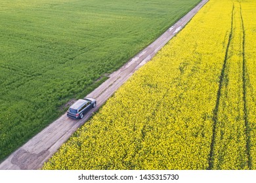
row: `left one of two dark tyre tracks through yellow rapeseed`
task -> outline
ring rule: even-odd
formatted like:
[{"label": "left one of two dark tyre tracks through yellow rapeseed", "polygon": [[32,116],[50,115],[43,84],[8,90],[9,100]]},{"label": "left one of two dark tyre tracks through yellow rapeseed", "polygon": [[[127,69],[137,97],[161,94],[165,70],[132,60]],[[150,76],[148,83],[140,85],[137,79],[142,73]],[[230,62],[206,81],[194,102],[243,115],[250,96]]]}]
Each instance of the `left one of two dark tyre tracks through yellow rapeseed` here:
[{"label": "left one of two dark tyre tracks through yellow rapeseed", "polygon": [[214,144],[215,144],[215,135],[216,135],[216,125],[218,122],[218,112],[219,112],[219,102],[221,99],[221,89],[223,88],[223,78],[224,78],[224,72],[226,70],[226,60],[228,59],[228,50],[230,47],[230,42],[232,40],[232,35],[233,35],[233,18],[234,18],[234,3],[232,7],[232,16],[231,16],[231,29],[230,29],[230,34],[228,37],[228,44],[226,46],[226,53],[224,56],[224,61],[223,61],[223,68],[221,69],[221,75],[219,76],[219,89],[217,92],[217,99],[216,99],[216,105],[213,110],[213,136],[211,137],[211,150],[209,153],[209,160],[208,160],[208,168],[209,170],[213,169],[213,156],[214,156]]}]

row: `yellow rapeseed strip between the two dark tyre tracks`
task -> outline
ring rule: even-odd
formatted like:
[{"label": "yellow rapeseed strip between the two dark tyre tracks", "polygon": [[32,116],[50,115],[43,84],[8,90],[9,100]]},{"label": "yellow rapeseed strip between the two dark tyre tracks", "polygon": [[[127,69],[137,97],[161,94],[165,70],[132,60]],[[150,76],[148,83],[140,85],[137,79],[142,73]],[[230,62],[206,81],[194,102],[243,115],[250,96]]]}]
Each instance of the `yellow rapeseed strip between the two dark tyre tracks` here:
[{"label": "yellow rapeseed strip between the two dark tyre tracks", "polygon": [[214,169],[248,169],[244,120],[243,26],[240,4],[234,1],[232,32],[223,67],[216,138]]}]

